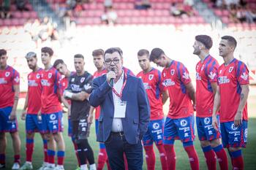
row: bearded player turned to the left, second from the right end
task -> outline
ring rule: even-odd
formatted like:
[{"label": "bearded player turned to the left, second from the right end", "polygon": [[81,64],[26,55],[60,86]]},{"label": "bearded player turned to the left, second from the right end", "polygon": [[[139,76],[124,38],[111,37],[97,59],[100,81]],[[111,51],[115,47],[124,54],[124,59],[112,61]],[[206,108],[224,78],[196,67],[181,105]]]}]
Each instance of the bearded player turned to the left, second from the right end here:
[{"label": "bearded player turned to the left, second from the right end", "polygon": [[[217,155],[220,169],[228,169],[227,154],[222,146],[221,135],[211,125],[214,95],[217,90],[217,69],[219,63],[209,54],[212,40],[207,35],[195,36],[194,54],[200,61],[196,65],[196,112],[197,134],[208,169],[216,170]],[[217,115],[219,124],[219,115]],[[214,153],[215,152],[215,153]]]}]

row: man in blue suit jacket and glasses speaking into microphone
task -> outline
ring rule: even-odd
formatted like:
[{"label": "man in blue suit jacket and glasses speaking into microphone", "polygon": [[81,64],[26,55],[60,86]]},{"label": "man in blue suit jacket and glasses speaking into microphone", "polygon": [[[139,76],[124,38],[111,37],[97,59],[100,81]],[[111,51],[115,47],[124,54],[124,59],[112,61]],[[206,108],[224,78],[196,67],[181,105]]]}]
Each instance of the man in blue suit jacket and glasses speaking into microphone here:
[{"label": "man in blue suit jacket and glasses speaking into microphone", "polygon": [[111,169],[124,170],[125,153],[129,170],[140,170],[150,107],[142,80],[124,72],[121,55],[119,48],[105,51],[108,73],[94,79],[89,103],[101,107],[97,141],[105,142]]}]

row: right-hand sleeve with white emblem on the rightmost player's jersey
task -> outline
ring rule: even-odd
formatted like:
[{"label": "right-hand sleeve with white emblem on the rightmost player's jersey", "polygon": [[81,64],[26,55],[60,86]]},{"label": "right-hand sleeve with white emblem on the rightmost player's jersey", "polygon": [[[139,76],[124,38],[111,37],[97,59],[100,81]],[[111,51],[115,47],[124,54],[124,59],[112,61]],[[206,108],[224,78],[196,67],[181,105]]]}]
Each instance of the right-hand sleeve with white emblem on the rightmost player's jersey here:
[{"label": "right-hand sleeve with white emblem on the rightmost player's jersey", "polygon": [[247,66],[241,61],[238,62],[236,77],[240,85],[249,84],[249,70],[247,69]]}]

